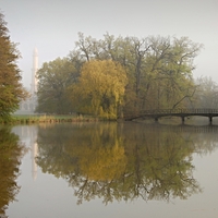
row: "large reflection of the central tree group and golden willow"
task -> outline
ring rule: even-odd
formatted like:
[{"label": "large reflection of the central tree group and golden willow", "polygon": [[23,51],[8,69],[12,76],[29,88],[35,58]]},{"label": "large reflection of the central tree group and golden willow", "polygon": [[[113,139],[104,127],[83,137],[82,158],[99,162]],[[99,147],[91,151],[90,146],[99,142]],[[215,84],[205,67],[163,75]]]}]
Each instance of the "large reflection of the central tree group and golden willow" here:
[{"label": "large reflection of the central tree group and golden willow", "polygon": [[105,204],[186,199],[201,192],[192,155],[207,150],[193,143],[196,134],[135,123],[49,125],[38,131],[37,164],[64,178],[78,204],[95,197]]}]

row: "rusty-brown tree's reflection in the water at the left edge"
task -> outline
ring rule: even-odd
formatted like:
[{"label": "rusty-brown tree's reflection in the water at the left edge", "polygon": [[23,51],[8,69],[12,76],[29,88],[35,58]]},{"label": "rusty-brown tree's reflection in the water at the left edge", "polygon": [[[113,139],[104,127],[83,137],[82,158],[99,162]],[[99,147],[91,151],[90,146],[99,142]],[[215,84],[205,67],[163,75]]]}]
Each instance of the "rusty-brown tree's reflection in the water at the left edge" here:
[{"label": "rusty-brown tree's reflection in the water at the left edge", "polygon": [[21,157],[24,147],[19,144],[19,136],[9,128],[0,128],[0,217],[7,217],[5,209],[15,201],[20,186],[16,178],[20,173]]}]

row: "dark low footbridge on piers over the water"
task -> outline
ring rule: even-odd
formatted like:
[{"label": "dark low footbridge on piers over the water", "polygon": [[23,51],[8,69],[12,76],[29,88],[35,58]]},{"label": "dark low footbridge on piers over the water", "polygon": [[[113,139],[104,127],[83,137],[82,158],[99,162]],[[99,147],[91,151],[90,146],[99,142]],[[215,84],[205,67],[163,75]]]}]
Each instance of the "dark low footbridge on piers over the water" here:
[{"label": "dark low footbridge on piers over the water", "polygon": [[192,116],[207,117],[209,123],[213,123],[213,118],[218,117],[217,108],[190,108],[190,109],[154,109],[154,110],[142,110],[134,113],[126,113],[125,120],[145,119],[153,118],[158,121],[162,117],[180,117],[184,123],[184,119]]}]

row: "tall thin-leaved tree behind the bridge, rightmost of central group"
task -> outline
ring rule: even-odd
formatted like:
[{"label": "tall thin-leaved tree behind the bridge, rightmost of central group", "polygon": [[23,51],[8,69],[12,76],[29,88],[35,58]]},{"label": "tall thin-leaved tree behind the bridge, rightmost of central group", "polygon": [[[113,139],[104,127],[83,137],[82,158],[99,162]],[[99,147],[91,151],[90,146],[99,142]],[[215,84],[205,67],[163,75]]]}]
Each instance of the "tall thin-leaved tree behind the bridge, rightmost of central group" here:
[{"label": "tall thin-leaved tree behind the bridge, rightmost of central group", "polygon": [[196,89],[193,61],[202,45],[187,37],[150,37],[149,45],[141,93],[143,108],[186,107]]}]

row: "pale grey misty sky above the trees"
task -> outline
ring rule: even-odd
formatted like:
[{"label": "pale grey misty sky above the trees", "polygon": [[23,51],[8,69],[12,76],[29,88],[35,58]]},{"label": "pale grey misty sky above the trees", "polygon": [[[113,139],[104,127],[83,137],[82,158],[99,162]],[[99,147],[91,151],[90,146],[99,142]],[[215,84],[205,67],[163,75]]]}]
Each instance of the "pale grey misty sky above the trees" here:
[{"label": "pale grey misty sky above the trees", "polygon": [[31,85],[33,51],[44,62],[66,57],[77,33],[114,36],[187,36],[204,45],[194,77],[218,83],[218,0],[0,0],[12,41],[19,43],[23,82]]}]

